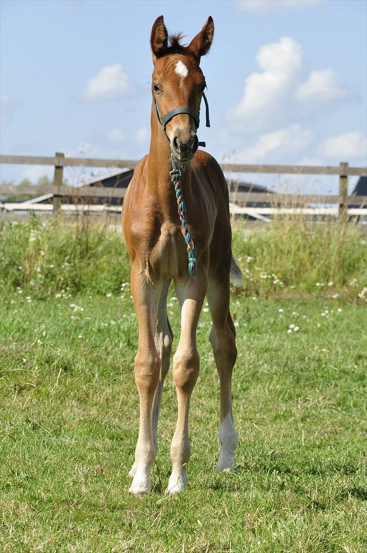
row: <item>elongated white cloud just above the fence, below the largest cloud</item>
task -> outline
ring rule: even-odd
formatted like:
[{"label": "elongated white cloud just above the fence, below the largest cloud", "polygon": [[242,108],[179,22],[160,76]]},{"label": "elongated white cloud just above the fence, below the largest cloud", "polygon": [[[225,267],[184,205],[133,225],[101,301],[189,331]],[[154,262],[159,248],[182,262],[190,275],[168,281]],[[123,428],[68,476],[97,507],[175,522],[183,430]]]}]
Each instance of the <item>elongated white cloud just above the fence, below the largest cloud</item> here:
[{"label": "elongated white cloud just above the fence, below the largest cloud", "polygon": [[313,133],[308,129],[303,129],[300,125],[291,125],[285,129],[261,134],[256,143],[250,148],[240,152],[242,160],[248,160],[249,163],[256,161],[269,163],[269,161],[289,159],[292,155],[304,152],[310,146],[313,140]]}]

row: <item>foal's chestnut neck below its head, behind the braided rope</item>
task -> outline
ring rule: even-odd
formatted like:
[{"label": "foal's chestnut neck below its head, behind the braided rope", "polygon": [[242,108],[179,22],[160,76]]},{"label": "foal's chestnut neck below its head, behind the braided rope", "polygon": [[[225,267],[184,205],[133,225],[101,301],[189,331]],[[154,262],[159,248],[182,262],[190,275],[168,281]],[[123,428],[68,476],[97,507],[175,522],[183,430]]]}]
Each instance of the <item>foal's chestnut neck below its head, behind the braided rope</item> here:
[{"label": "foal's chestnut neck below its head, behind the braided rope", "polygon": [[[171,148],[156,117],[155,108],[154,111],[152,109],[150,127],[151,137],[146,182],[150,191],[156,196],[161,209],[167,212],[167,215],[172,213],[177,218],[175,187],[170,178],[170,171],[172,170]],[[181,169],[181,173],[180,186],[186,199],[191,195],[191,166],[189,165],[185,170]]]}]

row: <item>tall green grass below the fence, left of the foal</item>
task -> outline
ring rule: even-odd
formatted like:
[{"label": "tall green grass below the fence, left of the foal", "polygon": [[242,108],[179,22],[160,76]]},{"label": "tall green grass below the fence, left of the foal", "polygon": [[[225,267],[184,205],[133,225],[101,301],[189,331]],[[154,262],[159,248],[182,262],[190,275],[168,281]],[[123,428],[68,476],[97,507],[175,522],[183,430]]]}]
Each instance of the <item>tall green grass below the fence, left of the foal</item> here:
[{"label": "tall green grass below the fence, left of the foal", "polygon": [[90,290],[114,293],[129,280],[122,235],[82,217],[6,222],[1,227],[1,289],[32,289],[35,296]]}]

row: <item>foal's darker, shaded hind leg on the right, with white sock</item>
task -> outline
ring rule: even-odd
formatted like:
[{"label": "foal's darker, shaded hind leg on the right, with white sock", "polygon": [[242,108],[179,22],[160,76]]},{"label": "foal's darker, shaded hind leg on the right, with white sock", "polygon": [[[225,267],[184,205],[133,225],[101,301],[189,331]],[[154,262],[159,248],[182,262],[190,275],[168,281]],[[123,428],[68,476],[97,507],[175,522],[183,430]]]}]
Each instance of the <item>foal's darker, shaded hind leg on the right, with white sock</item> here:
[{"label": "foal's darker, shaded hind leg on the right, with white sock", "polygon": [[221,388],[221,421],[219,424],[219,460],[217,471],[234,469],[234,451],[238,444],[232,415],[232,370],[237,357],[235,328],[229,312],[229,275],[209,278],[207,300],[212,316],[209,335]]}]

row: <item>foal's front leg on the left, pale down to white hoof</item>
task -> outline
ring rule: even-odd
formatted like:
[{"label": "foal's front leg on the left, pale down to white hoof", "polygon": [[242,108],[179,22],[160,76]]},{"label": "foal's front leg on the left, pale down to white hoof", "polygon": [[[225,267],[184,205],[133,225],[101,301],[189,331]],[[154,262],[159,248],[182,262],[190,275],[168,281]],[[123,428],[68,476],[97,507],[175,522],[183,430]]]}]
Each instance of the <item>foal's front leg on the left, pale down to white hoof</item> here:
[{"label": "foal's front leg on the left, pale down to white hoof", "polygon": [[135,449],[134,478],[129,491],[134,494],[149,493],[150,467],[155,460],[153,441],[152,406],[159,380],[160,358],[155,346],[154,334],[162,283],[147,281],[140,265],[133,265],[131,290],[138,316],[139,345],[135,357],[135,382],[140,399],[139,437]]}]

